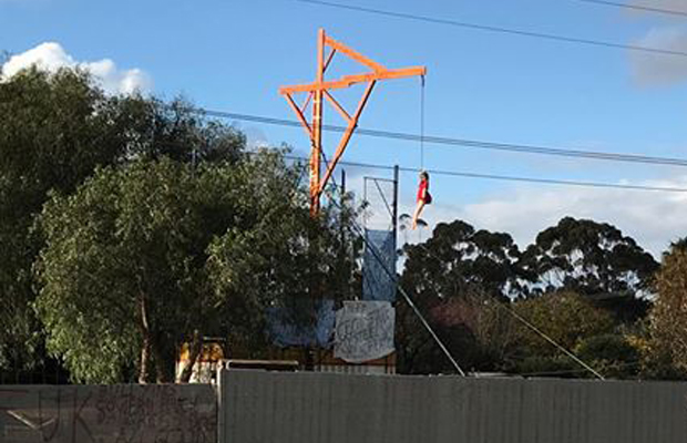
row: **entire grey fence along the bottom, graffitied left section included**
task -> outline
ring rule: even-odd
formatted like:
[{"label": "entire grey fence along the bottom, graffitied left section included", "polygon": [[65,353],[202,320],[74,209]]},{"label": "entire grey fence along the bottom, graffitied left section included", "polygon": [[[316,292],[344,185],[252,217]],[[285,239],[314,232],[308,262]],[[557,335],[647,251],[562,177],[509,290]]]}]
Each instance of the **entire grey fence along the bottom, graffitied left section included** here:
[{"label": "entire grey fence along the bottom, graffitied left section included", "polygon": [[240,370],[219,380],[217,391],[0,385],[0,442],[687,442],[687,383]]}]

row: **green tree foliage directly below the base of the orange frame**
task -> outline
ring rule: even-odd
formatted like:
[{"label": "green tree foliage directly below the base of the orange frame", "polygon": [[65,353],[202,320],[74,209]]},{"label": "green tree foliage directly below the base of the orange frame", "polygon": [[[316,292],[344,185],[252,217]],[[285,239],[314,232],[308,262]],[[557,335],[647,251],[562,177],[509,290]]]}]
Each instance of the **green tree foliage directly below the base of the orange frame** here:
[{"label": "green tree foliage directly below the base of the orange frame", "polygon": [[[278,171],[288,169],[275,165]],[[348,198],[339,207],[322,208],[314,219],[307,194],[284,186],[294,178],[275,182],[278,186],[265,192],[255,224],[227,230],[209,248],[208,271],[224,310],[223,330],[235,348],[253,357],[260,356],[267,339],[267,307],[285,308],[286,321],[307,329],[322,298],[350,298],[360,281],[356,259],[361,243],[347,229],[357,215]]]}]

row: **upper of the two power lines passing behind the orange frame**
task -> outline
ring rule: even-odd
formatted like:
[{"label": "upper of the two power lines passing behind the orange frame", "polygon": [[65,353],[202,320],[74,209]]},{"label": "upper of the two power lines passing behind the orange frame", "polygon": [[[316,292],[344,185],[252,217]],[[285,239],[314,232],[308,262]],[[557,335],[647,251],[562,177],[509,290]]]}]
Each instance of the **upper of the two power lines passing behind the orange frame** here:
[{"label": "upper of the two power lines passing behind the orange frame", "polygon": [[[245,121],[245,122],[280,125],[280,126],[288,126],[288,127],[301,127],[300,122],[297,122],[295,120],[275,119],[275,117],[267,117],[267,116],[260,116],[260,115],[239,114],[239,113],[233,113],[233,112],[213,111],[213,110],[205,110],[205,109],[196,109],[195,111],[198,113],[205,114],[205,115],[221,117],[221,119],[238,120],[238,121]],[[342,133],[347,128],[344,126],[338,126],[338,125],[322,125],[322,130],[329,131],[329,132]],[[572,157],[572,158],[586,158],[586,159],[596,159],[596,161],[640,163],[640,164],[649,164],[649,165],[687,167],[686,158],[658,157],[658,156],[649,156],[649,155],[621,154],[621,153],[609,153],[609,152],[594,152],[594,151],[585,151],[585,150],[551,147],[551,146],[536,146],[536,145],[525,145],[525,144],[514,144],[514,143],[488,142],[488,141],[479,141],[479,140],[470,140],[470,138],[440,137],[440,136],[433,136],[433,135],[421,136],[421,135],[410,134],[410,133],[369,130],[369,128],[362,128],[362,127],[358,127],[356,132],[360,135],[370,136],[370,137],[400,140],[400,141],[406,141],[406,142],[424,141],[425,143],[431,143],[435,145],[459,146],[459,147],[468,147],[468,148],[475,148],[475,150],[503,151],[503,152],[550,155],[550,156],[561,156],[561,157]]]}]

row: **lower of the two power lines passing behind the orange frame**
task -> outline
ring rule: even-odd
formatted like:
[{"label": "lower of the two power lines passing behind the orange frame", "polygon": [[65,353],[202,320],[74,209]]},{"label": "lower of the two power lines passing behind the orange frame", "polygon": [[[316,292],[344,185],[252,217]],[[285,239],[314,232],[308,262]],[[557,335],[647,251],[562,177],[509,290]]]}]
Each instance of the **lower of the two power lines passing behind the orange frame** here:
[{"label": "lower of the two power lines passing behind the orange frame", "polygon": [[[289,159],[307,161],[306,157],[287,155]],[[349,162],[340,161],[339,165],[351,167],[363,167],[369,169],[383,169],[393,171],[393,166],[380,165],[373,163]],[[399,166],[399,171],[419,173],[421,169],[417,167]],[[561,186],[578,186],[578,187],[596,187],[596,188],[611,188],[611,189],[624,189],[624,190],[650,190],[650,192],[667,192],[667,193],[687,193],[687,188],[684,187],[667,187],[667,186],[644,186],[644,185],[623,185],[614,183],[601,183],[601,182],[582,182],[582,181],[562,181],[554,178],[536,178],[536,177],[521,177],[513,175],[496,175],[496,174],[480,174],[460,171],[442,171],[442,169],[429,169],[432,175],[444,175],[462,178],[483,178],[494,179],[503,182],[521,182],[521,183],[536,183],[544,185],[561,185]]]}]

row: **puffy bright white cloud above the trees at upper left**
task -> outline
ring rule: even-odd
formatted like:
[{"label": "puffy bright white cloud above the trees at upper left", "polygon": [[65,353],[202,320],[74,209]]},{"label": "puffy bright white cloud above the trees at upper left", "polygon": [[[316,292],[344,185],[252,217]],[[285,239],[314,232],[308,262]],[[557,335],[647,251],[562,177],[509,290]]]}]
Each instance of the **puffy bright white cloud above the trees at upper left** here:
[{"label": "puffy bright white cloud above the trees at upper left", "polygon": [[147,92],[153,85],[151,76],[140,69],[120,70],[110,59],[78,62],[55,42],[41,43],[21,54],[13,55],[2,66],[2,72],[7,78],[11,78],[22,69],[34,64],[50,72],[63,66],[79,66],[91,72],[105,92],[111,94]]}]

